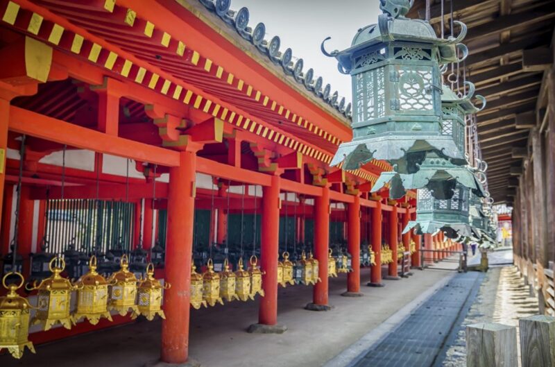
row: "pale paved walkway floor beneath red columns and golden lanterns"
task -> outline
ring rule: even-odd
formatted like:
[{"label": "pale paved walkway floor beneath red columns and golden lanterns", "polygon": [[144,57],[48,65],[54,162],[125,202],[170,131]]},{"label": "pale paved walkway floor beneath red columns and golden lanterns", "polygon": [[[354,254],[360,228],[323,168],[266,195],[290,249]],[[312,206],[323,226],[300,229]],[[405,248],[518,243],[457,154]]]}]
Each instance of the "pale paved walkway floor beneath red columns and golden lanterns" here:
[{"label": "pale paved walkway floor beneath red columns and golden lanterns", "polygon": [[[369,269],[363,269],[366,284]],[[278,321],[289,327],[282,335],[248,334],[257,322],[258,302],[232,302],[225,306],[191,311],[191,357],[206,367],[316,367],[348,349],[353,343],[379,330],[395,326],[392,316],[402,319],[444,284],[454,271],[414,271],[402,280],[385,280],[386,287],[362,287],[364,297],[345,298],[346,277],[330,279],[332,311],[306,311],[312,287],[280,289]],[[388,321],[389,322],[386,322]],[[418,332],[418,330],[415,330]],[[373,338],[379,337],[374,334]],[[370,343],[373,341],[370,339]],[[20,361],[0,355],[0,366],[33,367],[141,367],[160,352],[160,322],[139,322],[37,345],[37,354]],[[351,358],[352,359],[352,358]],[[348,359],[350,360],[350,359]],[[341,366],[341,358],[334,359]],[[344,364],[343,364],[344,365]]]}]

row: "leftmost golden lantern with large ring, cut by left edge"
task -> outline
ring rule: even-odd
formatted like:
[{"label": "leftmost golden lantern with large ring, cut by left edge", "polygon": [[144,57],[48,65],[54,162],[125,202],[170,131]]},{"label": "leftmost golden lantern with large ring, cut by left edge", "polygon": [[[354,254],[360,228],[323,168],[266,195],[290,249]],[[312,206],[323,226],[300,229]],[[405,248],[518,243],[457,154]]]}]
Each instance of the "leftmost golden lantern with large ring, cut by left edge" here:
[{"label": "leftmost golden lantern with large ring, cut by left edge", "polygon": [[[6,284],[10,275],[22,279],[19,284]],[[35,352],[29,336],[29,311],[32,308],[26,298],[20,297],[16,290],[24,283],[23,275],[9,272],[2,278],[2,285],[8,289],[6,296],[0,297],[0,350],[6,348],[14,358],[21,358],[25,347]]]}]

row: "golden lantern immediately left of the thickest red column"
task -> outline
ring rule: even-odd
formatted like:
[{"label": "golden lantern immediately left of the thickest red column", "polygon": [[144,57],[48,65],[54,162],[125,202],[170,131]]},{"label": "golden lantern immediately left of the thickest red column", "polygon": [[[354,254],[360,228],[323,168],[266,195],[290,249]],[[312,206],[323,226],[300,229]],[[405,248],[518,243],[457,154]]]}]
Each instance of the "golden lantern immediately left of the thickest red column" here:
[{"label": "golden lantern immediately left of the thickest red column", "polygon": [[[154,278],[154,264],[150,263],[146,266],[146,276],[144,280],[139,281],[137,287],[137,316],[142,315],[148,321],[153,321],[154,316],[158,315],[166,319],[164,311],[162,311],[162,289],[169,289],[171,284]],[[136,317],[136,316],[135,316]]]}]

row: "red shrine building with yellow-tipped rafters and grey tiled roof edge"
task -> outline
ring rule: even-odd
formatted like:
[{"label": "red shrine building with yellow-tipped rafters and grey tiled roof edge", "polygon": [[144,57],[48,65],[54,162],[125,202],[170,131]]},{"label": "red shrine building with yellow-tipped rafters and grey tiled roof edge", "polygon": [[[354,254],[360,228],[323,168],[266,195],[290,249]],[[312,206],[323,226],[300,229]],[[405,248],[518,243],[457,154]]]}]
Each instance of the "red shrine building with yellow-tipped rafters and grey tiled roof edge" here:
[{"label": "red shrine building with yellow-tipped rafters and grey tiled roof edge", "polygon": [[[193,264],[202,273],[229,257],[236,271],[239,257],[246,268],[254,255],[258,322],[268,327],[280,321],[286,251],[317,260],[319,280],[306,290],[316,308],[328,305],[338,253],[348,254],[350,293],[420,265],[421,237],[402,235],[415,194],[370,194],[384,162],[330,167],[352,138],[350,103],[293,62],[279,37],[266,39],[264,24],[249,24],[248,9],[210,4],[0,1],[3,272],[15,265],[40,279],[66,254],[71,278],[94,254],[109,273],[123,254],[133,268],[142,250],[169,284],[160,350],[169,363],[188,357]],[[425,236],[427,248],[460,248],[442,236]],[[36,304],[36,291],[19,291]],[[132,321],[112,319],[31,326],[29,340]]]}]

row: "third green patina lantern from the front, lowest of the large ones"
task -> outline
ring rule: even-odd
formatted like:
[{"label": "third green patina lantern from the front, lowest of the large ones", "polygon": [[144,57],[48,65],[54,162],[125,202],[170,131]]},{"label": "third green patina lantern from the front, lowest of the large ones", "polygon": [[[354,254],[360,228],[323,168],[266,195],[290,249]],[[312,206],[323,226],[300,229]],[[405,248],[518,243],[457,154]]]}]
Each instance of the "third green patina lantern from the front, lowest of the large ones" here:
[{"label": "third green patina lantern from the front, lowest of the large ones", "polygon": [[418,189],[416,203],[416,221],[409,221],[403,234],[412,228],[417,234],[432,234],[441,230],[449,238],[460,235],[472,236],[468,222],[470,190],[463,185],[457,185],[454,195],[450,199],[436,199],[429,189]]}]

